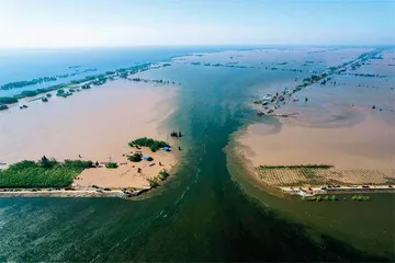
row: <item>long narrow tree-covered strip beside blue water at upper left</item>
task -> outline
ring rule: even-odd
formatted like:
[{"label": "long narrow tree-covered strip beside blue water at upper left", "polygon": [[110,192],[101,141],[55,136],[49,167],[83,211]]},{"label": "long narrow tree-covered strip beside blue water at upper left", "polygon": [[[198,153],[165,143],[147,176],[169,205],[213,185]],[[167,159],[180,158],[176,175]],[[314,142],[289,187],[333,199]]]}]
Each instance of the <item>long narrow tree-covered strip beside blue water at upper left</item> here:
[{"label": "long narrow tree-covered strip beside blue water at upper left", "polygon": [[[75,91],[79,92],[81,90],[88,90],[94,85],[102,85],[102,84],[106,83],[108,81],[113,81],[116,79],[126,79],[126,80],[135,81],[135,82],[154,82],[157,84],[177,84],[174,81],[169,81],[169,80],[148,80],[148,79],[140,79],[140,78],[128,78],[128,76],[135,75],[137,72],[143,72],[143,71],[146,71],[149,69],[168,67],[168,66],[171,66],[171,64],[143,64],[143,65],[137,65],[137,66],[132,66],[128,68],[120,68],[114,71],[106,71],[105,73],[101,73],[101,75],[87,76],[82,79],[71,80],[68,83],[56,84],[56,85],[52,85],[48,88],[42,88],[42,89],[36,89],[36,90],[22,91],[20,94],[16,94],[14,96],[0,96],[0,111],[8,110],[9,104],[18,103],[19,100],[24,99],[24,98],[33,98],[33,96],[37,96],[40,94],[52,92],[52,91],[57,91],[57,94],[56,94],[57,96],[67,98],[67,96],[72,95],[72,93]],[[2,85],[1,89],[8,90],[8,89],[14,89],[14,88],[22,88],[22,87],[30,85],[30,84],[48,82],[48,81],[50,81],[49,79],[38,78],[38,79],[33,79],[31,81],[11,82],[11,83]],[[178,83],[178,84],[180,84],[180,83]],[[64,89],[69,89],[69,90],[64,90]],[[58,91],[58,90],[60,90],[60,91]],[[43,98],[37,98],[37,100],[42,100],[42,99]],[[47,102],[47,101],[48,101],[48,96],[45,100],[45,102]]]}]

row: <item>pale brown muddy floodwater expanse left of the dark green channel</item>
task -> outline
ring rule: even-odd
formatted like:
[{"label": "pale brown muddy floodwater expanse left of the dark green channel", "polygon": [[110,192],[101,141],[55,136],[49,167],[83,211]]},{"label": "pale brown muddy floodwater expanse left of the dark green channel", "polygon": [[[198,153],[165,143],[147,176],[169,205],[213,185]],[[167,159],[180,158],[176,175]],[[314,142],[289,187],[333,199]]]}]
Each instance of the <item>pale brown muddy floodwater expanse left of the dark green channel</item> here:
[{"label": "pale brown muddy floodwater expanse left of the dark green channel", "polygon": [[[161,169],[170,171],[178,156],[143,149],[144,153],[151,155],[155,165],[149,167],[146,161],[132,163],[124,155],[135,149],[127,142],[151,137],[178,148],[179,141],[171,140],[165,124],[176,110],[178,89],[119,80],[67,99],[53,96],[47,103],[31,102],[25,110],[13,107],[0,112],[0,162],[37,160],[44,155],[58,160],[79,159],[79,156],[93,162],[112,160],[121,165],[88,169],[75,185],[146,187],[146,179],[157,175]],[[137,173],[138,167],[142,173]]]}]

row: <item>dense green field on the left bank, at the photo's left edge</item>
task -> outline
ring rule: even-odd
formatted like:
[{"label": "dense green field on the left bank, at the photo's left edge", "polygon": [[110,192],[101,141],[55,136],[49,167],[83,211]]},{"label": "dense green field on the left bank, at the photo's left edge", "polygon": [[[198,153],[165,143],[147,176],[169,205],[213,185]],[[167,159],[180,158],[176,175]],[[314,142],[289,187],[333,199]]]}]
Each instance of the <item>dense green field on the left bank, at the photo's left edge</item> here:
[{"label": "dense green field on the left bank, at the photo's left edge", "polygon": [[78,174],[90,167],[92,167],[91,161],[58,162],[45,156],[37,162],[24,160],[0,170],[0,187],[67,187]]}]

